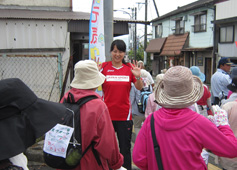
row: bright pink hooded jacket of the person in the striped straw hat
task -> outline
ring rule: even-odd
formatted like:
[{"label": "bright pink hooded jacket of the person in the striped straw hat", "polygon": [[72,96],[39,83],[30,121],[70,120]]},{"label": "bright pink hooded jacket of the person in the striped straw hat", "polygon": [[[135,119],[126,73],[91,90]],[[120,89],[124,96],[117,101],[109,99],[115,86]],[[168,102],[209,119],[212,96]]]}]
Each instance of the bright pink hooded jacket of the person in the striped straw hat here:
[{"label": "bright pink hooded jacket of the person in the striped straw hat", "polygon": [[[203,148],[225,157],[237,156],[237,139],[229,126],[218,128],[188,109],[161,108],[154,112],[155,130],[164,170],[206,170]],[[133,148],[133,162],[141,170],[157,170],[150,126],[145,120]]]}]

